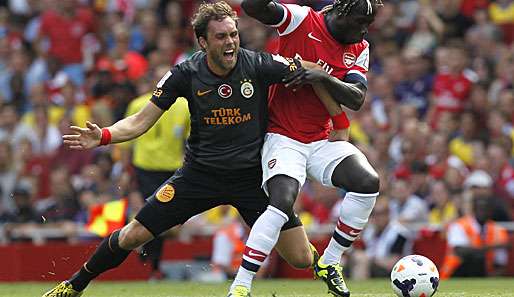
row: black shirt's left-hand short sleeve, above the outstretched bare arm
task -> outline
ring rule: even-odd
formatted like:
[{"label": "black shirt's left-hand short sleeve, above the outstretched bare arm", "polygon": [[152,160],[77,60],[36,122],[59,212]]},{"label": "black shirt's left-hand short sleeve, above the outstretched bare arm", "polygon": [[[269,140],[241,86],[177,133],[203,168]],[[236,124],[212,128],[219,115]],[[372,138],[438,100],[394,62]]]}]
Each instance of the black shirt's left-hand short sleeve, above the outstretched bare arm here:
[{"label": "black shirt's left-hand short sleeve, above the outstretched bare arm", "polygon": [[168,110],[178,97],[187,97],[187,86],[189,82],[187,75],[179,67],[173,67],[166,72],[157,83],[150,101],[159,108]]}]

